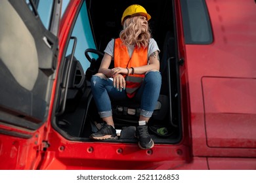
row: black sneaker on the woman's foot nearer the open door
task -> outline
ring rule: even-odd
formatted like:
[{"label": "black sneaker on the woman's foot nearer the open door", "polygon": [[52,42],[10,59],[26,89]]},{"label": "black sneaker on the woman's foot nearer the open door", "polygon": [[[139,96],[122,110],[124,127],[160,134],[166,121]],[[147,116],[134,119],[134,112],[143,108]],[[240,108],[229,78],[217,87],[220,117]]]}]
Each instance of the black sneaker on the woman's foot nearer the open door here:
[{"label": "black sneaker on the woman's foot nearer the open door", "polygon": [[104,139],[117,139],[116,129],[112,125],[104,124],[102,128],[96,133],[91,134],[90,139],[104,140]]}]

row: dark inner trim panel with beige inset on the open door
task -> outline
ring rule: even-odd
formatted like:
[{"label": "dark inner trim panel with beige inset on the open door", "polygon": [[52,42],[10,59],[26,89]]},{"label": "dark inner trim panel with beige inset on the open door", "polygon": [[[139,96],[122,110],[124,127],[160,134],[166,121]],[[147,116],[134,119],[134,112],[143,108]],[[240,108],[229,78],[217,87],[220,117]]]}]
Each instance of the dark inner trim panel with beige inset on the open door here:
[{"label": "dark inner trim panel with beige inset on the open door", "polygon": [[57,37],[37,12],[39,1],[33,2],[0,3],[0,121],[28,129],[47,119],[58,51]]}]

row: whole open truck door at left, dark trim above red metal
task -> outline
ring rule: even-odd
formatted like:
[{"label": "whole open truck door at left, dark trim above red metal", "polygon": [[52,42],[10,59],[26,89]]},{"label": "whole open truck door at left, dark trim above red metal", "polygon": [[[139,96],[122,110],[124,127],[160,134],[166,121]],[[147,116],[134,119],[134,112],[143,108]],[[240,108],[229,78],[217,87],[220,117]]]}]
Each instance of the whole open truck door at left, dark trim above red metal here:
[{"label": "whole open truck door at left, dark trim above red metal", "polygon": [[61,1],[0,3],[0,169],[36,169],[58,56]]}]

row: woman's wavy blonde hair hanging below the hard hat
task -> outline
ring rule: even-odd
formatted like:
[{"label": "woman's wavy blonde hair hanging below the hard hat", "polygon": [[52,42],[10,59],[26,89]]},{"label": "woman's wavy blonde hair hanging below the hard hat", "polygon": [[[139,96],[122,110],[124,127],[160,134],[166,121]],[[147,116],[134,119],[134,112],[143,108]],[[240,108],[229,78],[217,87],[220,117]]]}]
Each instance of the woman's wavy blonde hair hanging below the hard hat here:
[{"label": "woman's wavy blonde hair hanging below the hard hat", "polygon": [[145,32],[142,32],[140,26],[140,16],[132,16],[125,20],[123,30],[120,32],[119,37],[125,45],[137,45],[138,48],[146,48],[151,38],[150,28],[147,26]]}]

